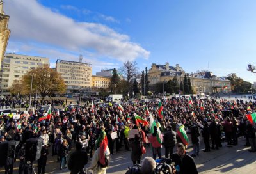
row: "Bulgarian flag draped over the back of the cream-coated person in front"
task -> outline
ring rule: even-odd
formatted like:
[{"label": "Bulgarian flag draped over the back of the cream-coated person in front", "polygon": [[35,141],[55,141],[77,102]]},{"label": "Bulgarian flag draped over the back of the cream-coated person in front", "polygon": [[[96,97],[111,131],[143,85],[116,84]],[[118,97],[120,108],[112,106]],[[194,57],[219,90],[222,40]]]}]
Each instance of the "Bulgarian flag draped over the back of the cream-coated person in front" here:
[{"label": "Bulgarian flag draped over the back of the cream-coated person in front", "polygon": [[107,138],[106,132],[104,130],[101,130],[99,138],[95,143],[94,149],[97,150],[97,148],[100,148],[99,162],[102,165],[105,164],[105,151],[107,147],[108,147],[108,138]]}]

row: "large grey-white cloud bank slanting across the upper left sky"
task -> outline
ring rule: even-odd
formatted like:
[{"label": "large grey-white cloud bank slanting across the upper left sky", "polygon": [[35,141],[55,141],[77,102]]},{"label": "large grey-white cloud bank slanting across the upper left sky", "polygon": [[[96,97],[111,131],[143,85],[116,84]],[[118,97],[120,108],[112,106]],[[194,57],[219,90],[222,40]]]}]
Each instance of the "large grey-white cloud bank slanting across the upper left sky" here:
[{"label": "large grey-white cloud bank slanting across the upper left sky", "polygon": [[[65,8],[74,10],[72,6]],[[134,61],[136,58],[148,59],[150,55],[141,45],[131,42],[127,35],[102,24],[75,22],[52,12],[36,0],[8,0],[4,3],[4,12],[10,15],[8,28],[11,29],[10,40],[13,42],[35,42],[70,52],[90,51],[97,56],[122,62]]]}]

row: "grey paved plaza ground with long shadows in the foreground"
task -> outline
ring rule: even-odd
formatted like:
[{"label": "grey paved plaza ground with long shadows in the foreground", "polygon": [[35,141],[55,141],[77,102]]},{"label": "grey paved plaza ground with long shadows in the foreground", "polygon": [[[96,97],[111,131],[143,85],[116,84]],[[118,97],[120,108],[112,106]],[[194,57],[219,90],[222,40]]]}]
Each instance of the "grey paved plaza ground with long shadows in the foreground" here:
[{"label": "grey paved plaza ground with long shadows in the foreground", "polygon": [[[239,138],[238,145],[232,146],[232,148],[226,147],[225,142],[222,144],[223,147],[219,150],[203,152],[204,144],[201,142],[200,154],[198,157],[195,157],[199,173],[255,173],[256,153],[248,152],[250,148],[244,146],[245,138]],[[192,148],[189,147],[189,154],[191,154],[191,150]],[[162,155],[164,155],[164,148],[162,148]],[[152,151],[150,148],[147,148],[147,153],[144,156],[152,157]],[[89,165],[87,164],[86,166]],[[107,173],[123,174],[127,171],[128,166],[132,166],[131,151],[127,152],[123,149],[121,152],[115,153],[111,156],[111,164],[108,167]],[[60,170],[60,164],[57,163],[56,156],[51,157],[51,155],[49,155],[47,160],[46,171],[47,173],[70,173],[68,169]],[[0,173],[4,173],[4,168],[0,168]],[[13,173],[18,173],[18,162],[15,163]]]}]

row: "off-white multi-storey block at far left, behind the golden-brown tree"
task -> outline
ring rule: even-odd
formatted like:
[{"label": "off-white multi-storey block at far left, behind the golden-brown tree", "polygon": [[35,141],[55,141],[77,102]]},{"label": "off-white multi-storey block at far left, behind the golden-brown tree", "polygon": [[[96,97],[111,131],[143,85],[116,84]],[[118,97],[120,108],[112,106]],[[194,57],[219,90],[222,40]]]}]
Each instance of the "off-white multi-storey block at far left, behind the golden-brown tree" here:
[{"label": "off-white multi-storey block at far left, behind the golden-brown tree", "polygon": [[8,88],[12,86],[14,81],[19,81],[29,70],[45,64],[49,65],[49,58],[6,54],[0,72],[1,94],[10,95]]}]

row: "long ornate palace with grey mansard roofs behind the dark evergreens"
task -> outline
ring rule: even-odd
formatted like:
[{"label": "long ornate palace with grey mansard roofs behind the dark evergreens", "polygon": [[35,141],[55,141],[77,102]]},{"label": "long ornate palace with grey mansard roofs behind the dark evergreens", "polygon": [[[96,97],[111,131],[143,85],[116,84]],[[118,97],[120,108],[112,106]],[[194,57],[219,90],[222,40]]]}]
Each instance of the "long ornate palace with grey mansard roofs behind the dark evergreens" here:
[{"label": "long ornate palace with grey mansard roofs behind the dark evergreens", "polygon": [[[152,64],[150,70],[148,70],[149,85],[153,85],[159,82],[172,80],[177,78],[179,84],[184,81],[185,75],[190,78],[191,86],[195,93],[219,93],[224,91],[228,93],[231,91],[231,83],[229,80],[221,77],[217,77],[212,72],[204,72],[203,74],[189,74],[186,73],[179,64],[176,66],[169,66],[169,63],[165,65]],[[223,86],[227,85],[227,89],[223,90]]]}]

